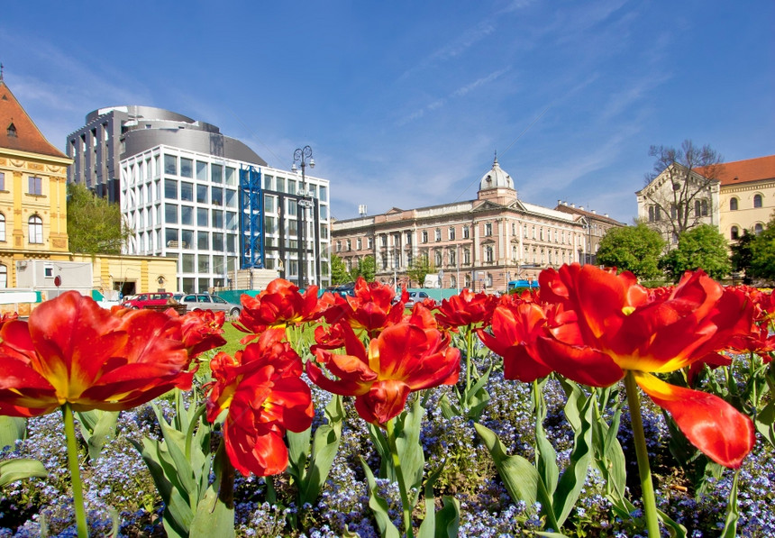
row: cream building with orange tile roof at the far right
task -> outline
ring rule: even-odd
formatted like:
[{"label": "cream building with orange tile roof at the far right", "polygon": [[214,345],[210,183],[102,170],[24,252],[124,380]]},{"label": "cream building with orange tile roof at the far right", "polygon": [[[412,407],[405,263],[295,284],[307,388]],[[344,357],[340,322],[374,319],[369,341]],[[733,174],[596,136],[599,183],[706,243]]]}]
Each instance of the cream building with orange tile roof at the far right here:
[{"label": "cream building with orange tile roof at the far right", "polygon": [[[687,182],[691,199],[670,203]],[[734,242],[745,230],[761,233],[775,211],[775,155],[712,169],[687,170],[674,164],[635,195],[638,218],[659,230],[669,244],[678,242],[670,225],[676,218],[683,218],[685,229],[700,223],[716,226],[728,242]]]}]

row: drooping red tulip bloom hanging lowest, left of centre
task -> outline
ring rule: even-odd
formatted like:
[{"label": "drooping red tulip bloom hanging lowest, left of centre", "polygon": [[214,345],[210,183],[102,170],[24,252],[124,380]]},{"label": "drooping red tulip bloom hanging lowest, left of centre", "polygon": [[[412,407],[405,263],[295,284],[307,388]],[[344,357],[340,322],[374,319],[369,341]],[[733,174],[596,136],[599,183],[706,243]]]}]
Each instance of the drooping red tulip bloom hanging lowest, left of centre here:
[{"label": "drooping red tulip bloom hanging lowest, left of centre", "polygon": [[287,468],[287,430],[304,432],[314,415],[312,395],[299,378],[301,359],[283,341],[284,329],[268,329],[234,358],[218,353],[210,363],[214,381],[207,420],[223,410],[223,441],[234,469],[248,476],[276,475]]}]

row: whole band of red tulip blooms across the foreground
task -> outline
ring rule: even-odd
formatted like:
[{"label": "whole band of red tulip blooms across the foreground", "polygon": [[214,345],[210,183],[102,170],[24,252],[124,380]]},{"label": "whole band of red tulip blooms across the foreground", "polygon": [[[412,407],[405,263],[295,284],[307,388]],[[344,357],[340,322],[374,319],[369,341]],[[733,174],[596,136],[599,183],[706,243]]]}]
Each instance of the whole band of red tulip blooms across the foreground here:
[{"label": "whole band of red tulip blooms across the foreground", "polygon": [[[522,295],[463,290],[440,305],[407,311],[406,292],[395,296],[391,287],[362,278],[353,296],[318,296],[316,287],[302,293],[277,279],[258,296],[242,296],[234,326],[246,333],[245,347],[210,361],[202,413],[208,423],[223,424],[232,470],[276,475],[289,466],[287,434],[311,428],[309,381],[354,399],[358,415],[387,435],[400,476],[396,428],[409,427],[400,421],[410,402],[418,405],[413,393],[453,386],[458,406],[446,404],[464,419],[478,420],[487,405],[483,387],[490,370],[479,378],[471,361],[478,337],[502,358],[491,368],[502,367],[506,379],[538,383],[552,375],[590,388],[624,381],[634,429],[640,388],[708,458],[741,466],[754,443],[752,420],[697,390],[696,381],[706,365],[730,364],[726,351],[751,351],[770,362],[771,293],[722,287],[701,270],[675,287],[650,290],[630,273],[579,264],[546,269],[539,282],[538,291]],[[187,390],[194,359],[225,343],[223,322],[223,313],[209,311],[107,311],[75,292],[43,303],[27,322],[4,316],[0,414],[30,417],[61,408],[67,423],[74,411],[120,411],[173,388]],[[305,347],[298,338],[307,328],[314,341]],[[467,343],[462,368],[453,345],[458,334]],[[682,386],[675,384],[676,372]],[[419,470],[422,475],[422,460]],[[408,490],[417,485],[400,478],[398,486],[405,532],[412,535],[416,498]],[[647,487],[643,483],[644,496]]]}]

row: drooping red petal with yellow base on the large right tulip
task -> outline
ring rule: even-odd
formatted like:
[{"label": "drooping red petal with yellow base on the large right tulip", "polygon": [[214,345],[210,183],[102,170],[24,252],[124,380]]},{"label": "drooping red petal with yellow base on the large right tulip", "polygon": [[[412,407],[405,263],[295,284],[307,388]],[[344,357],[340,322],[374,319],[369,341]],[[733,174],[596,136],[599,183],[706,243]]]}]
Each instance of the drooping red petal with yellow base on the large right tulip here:
[{"label": "drooping red petal with yellow base on the large right tulip", "polygon": [[654,403],[666,409],[687,436],[708,458],[737,469],[755,441],[751,419],[720,397],[665,383],[637,372],[635,380]]}]

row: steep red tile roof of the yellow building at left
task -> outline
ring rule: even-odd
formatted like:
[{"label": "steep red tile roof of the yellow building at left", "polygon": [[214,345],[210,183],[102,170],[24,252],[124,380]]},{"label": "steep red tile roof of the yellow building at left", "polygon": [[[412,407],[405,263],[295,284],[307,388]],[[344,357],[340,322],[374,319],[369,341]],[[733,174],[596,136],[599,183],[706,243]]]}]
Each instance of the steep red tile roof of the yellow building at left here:
[{"label": "steep red tile roof of the yellow building at left", "polygon": [[46,140],[2,79],[0,79],[0,148],[67,159],[67,155]]}]

